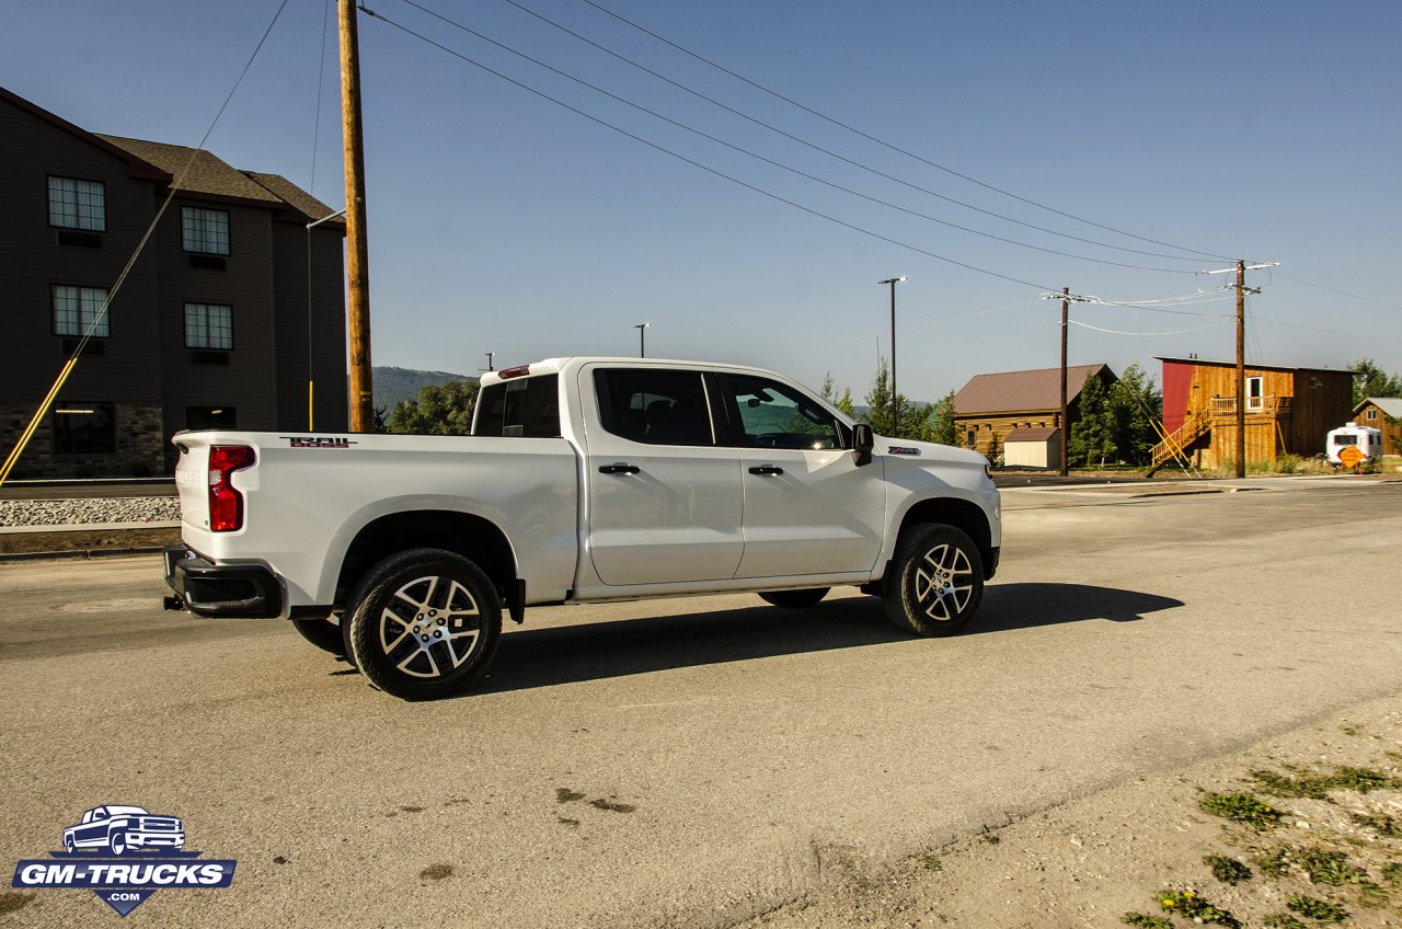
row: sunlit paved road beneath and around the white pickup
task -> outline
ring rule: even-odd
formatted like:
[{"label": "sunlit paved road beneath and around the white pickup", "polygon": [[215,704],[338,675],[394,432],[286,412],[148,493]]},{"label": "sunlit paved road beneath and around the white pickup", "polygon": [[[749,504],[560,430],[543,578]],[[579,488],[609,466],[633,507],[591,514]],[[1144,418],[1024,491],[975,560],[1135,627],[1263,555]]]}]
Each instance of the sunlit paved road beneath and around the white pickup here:
[{"label": "sunlit paved road beneath and around the white pickup", "polygon": [[[1402,484],[1269,487],[1007,491],[1004,568],[951,640],[848,595],[541,609],[484,692],[432,704],[280,623],[161,613],[150,557],[3,564],[0,862],[132,803],[238,860],[133,925],[729,926],[1402,690]],[[18,902],[0,921],[116,919]]]}]

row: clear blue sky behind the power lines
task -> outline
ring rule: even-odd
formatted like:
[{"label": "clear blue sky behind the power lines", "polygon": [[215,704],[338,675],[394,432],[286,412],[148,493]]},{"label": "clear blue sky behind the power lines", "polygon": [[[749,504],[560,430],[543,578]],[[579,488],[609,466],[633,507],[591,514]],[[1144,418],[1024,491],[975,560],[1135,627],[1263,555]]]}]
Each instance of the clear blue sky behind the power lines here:
[{"label": "clear blue sky behind the power lines", "polygon": [[[583,0],[519,1],[904,184],[667,86],[505,0],[416,1],[670,119],[906,210],[1102,261],[1173,271],[1230,264],[970,184]],[[1248,275],[1265,288],[1248,300],[1248,359],[1343,368],[1373,356],[1402,369],[1402,3],[597,1],[986,184],[1176,247],[1281,262]],[[6,0],[0,84],[97,132],[195,145],[278,6]],[[660,122],[405,0],[369,6],[655,145],[893,240],[709,174],[362,15],[379,365],[475,373],[486,351],[498,365],[629,355],[638,348],[632,326],[648,321],[649,355],[757,363],[815,387],[831,372],[859,399],[878,351],[889,352],[889,290],[876,282],[908,275],[897,290],[900,389],[932,400],[979,372],[1057,363],[1060,305],[1036,299],[1040,286],[1165,300],[1227,281],[1095,264],[941,226]],[[338,108],[334,10],[325,0],[289,0],[207,147],[237,167],[285,174],[339,208]],[[914,188],[1172,257],[1036,232]],[[1155,355],[1231,358],[1230,298],[1178,309],[1207,316],[1075,306],[1073,319],[1085,326],[1071,330],[1071,362],[1105,361],[1116,370],[1138,362],[1158,376]]]}]

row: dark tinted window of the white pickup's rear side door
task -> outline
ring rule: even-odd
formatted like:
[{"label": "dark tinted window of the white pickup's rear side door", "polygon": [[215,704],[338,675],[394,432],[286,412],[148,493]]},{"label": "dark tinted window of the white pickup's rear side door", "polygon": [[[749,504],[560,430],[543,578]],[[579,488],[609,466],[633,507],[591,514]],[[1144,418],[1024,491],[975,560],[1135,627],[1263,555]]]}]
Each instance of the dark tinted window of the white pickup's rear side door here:
[{"label": "dark tinted window of the white pickup's rear side door", "polygon": [[594,370],[604,429],[648,445],[715,445],[701,373],[614,368]]}]

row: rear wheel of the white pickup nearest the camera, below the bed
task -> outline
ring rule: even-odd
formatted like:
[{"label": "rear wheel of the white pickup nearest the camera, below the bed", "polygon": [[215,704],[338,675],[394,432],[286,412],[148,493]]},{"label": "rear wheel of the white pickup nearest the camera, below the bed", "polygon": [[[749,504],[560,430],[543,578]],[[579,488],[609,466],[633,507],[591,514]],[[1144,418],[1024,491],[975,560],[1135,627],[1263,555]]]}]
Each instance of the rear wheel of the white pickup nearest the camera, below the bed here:
[{"label": "rear wheel of the white pickup nearest the camera, below the bed", "polygon": [[[460,554],[409,549],[374,566],[348,610],[356,667],[405,700],[467,689],[486,669],[502,633],[502,601],[486,574]],[[346,619],[342,619],[346,622]]]}]

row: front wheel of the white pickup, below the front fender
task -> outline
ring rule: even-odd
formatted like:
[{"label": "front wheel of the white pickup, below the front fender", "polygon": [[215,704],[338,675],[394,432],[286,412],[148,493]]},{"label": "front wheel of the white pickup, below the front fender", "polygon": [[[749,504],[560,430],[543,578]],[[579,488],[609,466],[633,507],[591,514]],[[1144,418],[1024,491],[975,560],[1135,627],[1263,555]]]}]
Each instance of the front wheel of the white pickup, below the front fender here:
[{"label": "front wheel of the white pickup, below the front fender", "polygon": [[983,599],[983,556],[962,529],[914,526],[901,539],[886,580],[886,615],[917,636],[952,636]]}]

